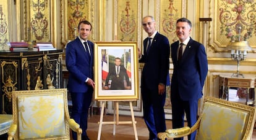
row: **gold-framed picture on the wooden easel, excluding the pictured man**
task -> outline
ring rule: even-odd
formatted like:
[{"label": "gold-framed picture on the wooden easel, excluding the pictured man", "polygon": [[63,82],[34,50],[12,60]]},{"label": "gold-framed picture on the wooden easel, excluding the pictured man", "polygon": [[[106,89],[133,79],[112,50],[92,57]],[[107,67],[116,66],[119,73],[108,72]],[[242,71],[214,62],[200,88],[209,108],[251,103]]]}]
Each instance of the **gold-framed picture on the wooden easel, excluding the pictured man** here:
[{"label": "gold-framed picture on the wooden easel, excluding the pictured man", "polygon": [[[96,100],[137,100],[139,99],[139,68],[136,42],[95,42],[95,99]],[[106,74],[114,58],[121,58],[127,73],[129,73],[129,89],[106,90]],[[124,79],[125,80],[125,79]]]}]

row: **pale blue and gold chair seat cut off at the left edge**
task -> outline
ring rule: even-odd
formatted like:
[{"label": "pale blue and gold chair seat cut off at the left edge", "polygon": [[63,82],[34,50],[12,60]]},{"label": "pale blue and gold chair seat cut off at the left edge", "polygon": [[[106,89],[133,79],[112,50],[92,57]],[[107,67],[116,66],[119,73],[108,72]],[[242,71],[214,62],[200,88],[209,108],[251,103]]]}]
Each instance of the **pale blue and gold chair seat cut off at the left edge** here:
[{"label": "pale blue and gold chair seat cut off at the left edge", "polygon": [[0,114],[0,135],[7,133],[12,123],[12,115]]}]

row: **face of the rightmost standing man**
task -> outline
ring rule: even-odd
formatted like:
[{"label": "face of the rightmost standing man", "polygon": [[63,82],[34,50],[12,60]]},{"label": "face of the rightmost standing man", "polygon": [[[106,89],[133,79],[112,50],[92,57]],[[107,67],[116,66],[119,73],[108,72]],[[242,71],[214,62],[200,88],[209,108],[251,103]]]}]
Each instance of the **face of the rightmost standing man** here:
[{"label": "face of the rightmost standing man", "polygon": [[176,24],[176,34],[179,37],[179,41],[185,41],[189,37],[191,32],[191,27],[187,22],[178,22]]}]

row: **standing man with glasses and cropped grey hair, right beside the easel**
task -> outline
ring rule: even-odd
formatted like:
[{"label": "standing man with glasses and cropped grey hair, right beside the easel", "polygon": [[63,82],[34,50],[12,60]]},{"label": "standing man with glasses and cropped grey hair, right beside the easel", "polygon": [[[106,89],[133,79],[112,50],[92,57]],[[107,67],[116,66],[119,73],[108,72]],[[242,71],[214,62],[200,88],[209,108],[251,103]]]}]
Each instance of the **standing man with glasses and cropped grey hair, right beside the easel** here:
[{"label": "standing man with glasses and cropped grey hair, right beside the easel", "polygon": [[148,127],[149,139],[157,139],[157,133],[166,130],[164,103],[170,47],[168,38],[156,31],[153,17],[143,17],[142,25],[148,33],[148,37],[143,41],[142,56],[139,50],[139,62],[145,63],[141,79],[143,118]]}]

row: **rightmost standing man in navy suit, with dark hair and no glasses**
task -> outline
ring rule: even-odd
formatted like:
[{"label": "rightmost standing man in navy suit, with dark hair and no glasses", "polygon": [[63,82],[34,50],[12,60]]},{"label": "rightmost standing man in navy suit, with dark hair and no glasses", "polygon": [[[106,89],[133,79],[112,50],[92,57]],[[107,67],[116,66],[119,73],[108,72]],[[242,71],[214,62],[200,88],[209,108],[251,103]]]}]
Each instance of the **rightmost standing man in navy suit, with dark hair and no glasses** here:
[{"label": "rightmost standing man in navy suit, with dark hair and no glasses", "polygon": [[[173,128],[184,126],[184,112],[188,126],[197,122],[198,99],[202,97],[208,72],[205,47],[190,37],[191,28],[191,22],[186,18],[177,20],[176,34],[179,41],[171,44],[174,66],[171,79]],[[195,134],[192,133],[188,138],[195,139]]]}]

